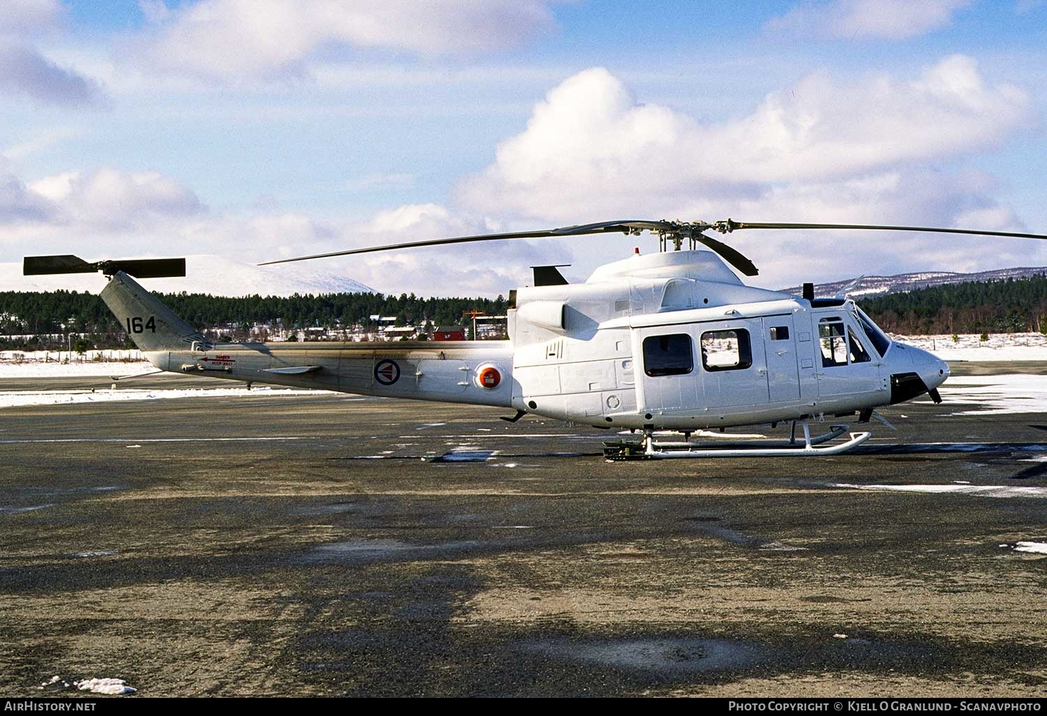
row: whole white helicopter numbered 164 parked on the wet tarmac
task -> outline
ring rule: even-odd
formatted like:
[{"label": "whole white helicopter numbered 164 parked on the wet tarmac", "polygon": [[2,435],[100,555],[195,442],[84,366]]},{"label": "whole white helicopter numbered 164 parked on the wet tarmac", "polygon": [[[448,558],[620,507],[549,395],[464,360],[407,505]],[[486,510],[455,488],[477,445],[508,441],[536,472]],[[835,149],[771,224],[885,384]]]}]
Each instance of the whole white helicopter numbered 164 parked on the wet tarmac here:
[{"label": "whole white helicopter numbered 164 parked on the wet tarmac", "polygon": [[[534,267],[534,286],[510,291],[509,340],[210,343],[131,276],[185,275],[184,259],[102,261],[27,256],[24,273],[102,271],[102,298],[159,371],[369,396],[512,408],[526,415],[640,431],[605,443],[609,458],[826,455],[870,432],[810,422],[857,416],[930,394],[949,365],[891,340],[853,300],[745,286],[753,263],[704,233],[738,229],[871,229],[1047,239],[936,227],[726,221],[615,221],[512,233],[456,237],[300,256],[305,261],[419,246],[623,232],[658,234],[659,253],[599,267],[571,285],[555,266]],[[689,250],[683,250],[684,242]],[[674,250],[667,250],[669,246]],[[697,250],[703,244],[711,250]],[[717,255],[718,254],[718,255]],[[782,441],[693,442],[708,428],[789,423]],[[802,440],[797,425],[802,426]],[[889,424],[888,424],[889,425]],[[659,434],[655,434],[655,431]],[[665,440],[664,431],[682,433]]]}]

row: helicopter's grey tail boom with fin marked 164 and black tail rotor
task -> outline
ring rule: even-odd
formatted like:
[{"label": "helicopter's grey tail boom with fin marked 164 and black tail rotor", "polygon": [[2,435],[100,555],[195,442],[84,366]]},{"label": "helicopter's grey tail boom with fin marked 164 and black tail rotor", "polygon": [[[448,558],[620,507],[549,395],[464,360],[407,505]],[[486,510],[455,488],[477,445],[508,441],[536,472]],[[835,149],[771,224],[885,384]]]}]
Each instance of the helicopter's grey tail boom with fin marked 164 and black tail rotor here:
[{"label": "helicopter's grey tail boom with fin marked 164 and black tail rotor", "polygon": [[510,341],[213,344],[131,274],[184,275],[182,259],[86,262],[27,256],[29,274],[102,271],[102,299],[147,360],[161,371],[387,398],[512,405]]}]

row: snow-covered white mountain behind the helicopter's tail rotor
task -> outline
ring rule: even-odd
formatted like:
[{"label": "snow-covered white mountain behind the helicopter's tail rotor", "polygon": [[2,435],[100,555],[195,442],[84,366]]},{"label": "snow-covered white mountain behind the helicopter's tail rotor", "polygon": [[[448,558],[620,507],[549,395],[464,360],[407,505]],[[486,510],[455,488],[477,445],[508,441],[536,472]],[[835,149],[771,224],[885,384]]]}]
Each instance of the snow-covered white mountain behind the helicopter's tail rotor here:
[{"label": "snow-covered white mountain behind the helicopter's tail rotor", "polygon": [[[148,278],[142,285],[158,293],[210,293],[216,296],[289,296],[294,293],[359,293],[374,289],[308,265],[254,266],[224,256],[185,256],[185,273],[176,278]],[[0,264],[0,291],[90,291],[106,285],[101,273],[23,276],[22,264]]]}]

